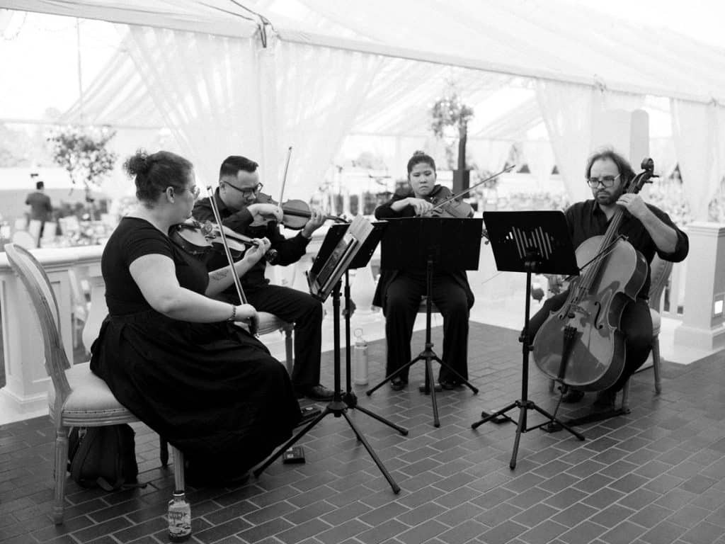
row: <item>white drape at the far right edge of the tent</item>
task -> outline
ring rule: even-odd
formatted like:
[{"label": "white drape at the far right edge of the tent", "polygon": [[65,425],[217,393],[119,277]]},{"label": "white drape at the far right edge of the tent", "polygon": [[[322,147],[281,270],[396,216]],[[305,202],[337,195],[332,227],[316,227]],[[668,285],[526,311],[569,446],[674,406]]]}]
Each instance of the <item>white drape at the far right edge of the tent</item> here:
[{"label": "white drape at the far right edge of the tent", "polygon": [[725,174],[724,108],[673,99],[672,135],[692,219],[708,220],[708,205]]}]

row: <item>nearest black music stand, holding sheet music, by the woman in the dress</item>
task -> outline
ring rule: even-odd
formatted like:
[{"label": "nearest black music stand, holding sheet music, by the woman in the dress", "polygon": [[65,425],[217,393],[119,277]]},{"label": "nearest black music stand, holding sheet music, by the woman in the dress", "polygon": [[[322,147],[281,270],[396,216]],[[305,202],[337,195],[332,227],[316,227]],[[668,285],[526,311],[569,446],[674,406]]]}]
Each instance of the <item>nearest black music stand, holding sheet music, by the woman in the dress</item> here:
[{"label": "nearest black music stand, holding sheet music, by the woman in the dress", "polygon": [[[278,457],[294,445],[297,440],[302,438],[307,432],[312,429],[313,426],[317,425],[323,420],[328,414],[333,414],[336,418],[340,416],[344,417],[349,424],[352,432],[355,432],[355,437],[360,442],[363,442],[365,449],[368,450],[370,457],[373,458],[378,469],[383,473],[383,476],[388,481],[390,487],[392,487],[393,493],[399,493],[400,487],[397,485],[395,480],[391,477],[382,461],[376,455],[373,448],[370,446],[363,434],[357,429],[355,423],[347,415],[347,405],[342,400],[342,394],[340,389],[340,284],[341,277],[347,271],[347,268],[352,263],[352,259],[355,257],[357,252],[362,247],[365,247],[365,242],[368,236],[375,232],[375,228],[370,221],[365,220],[362,216],[355,218],[355,221],[347,228],[344,235],[335,244],[328,244],[326,251],[329,251],[327,255],[318,255],[320,259],[320,266],[318,273],[310,273],[307,276],[307,283],[310,284],[310,294],[320,301],[324,301],[327,297],[333,295],[333,317],[334,317],[334,397],[325,407],[325,409],[317,416],[314,420],[310,421],[302,431],[294,435],[290,440],[286,442],[281,448],[277,450],[273,456],[267,459],[259,468],[254,470],[254,476],[259,477],[265,469],[270,466]],[[378,237],[379,239],[379,237]],[[377,242],[376,242],[377,243]],[[373,250],[375,244],[373,244]],[[369,258],[369,257],[368,257]],[[405,430],[405,429],[404,429]]]}]

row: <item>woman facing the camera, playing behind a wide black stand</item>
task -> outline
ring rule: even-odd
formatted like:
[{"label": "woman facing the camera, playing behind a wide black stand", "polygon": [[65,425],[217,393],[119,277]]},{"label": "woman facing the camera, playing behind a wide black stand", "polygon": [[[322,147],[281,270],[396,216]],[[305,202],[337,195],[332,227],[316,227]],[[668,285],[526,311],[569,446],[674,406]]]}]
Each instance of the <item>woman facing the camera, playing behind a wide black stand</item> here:
[{"label": "woman facing the camera, playing behind a wide black stand", "polygon": [[[415,152],[407,163],[410,188],[397,191],[386,204],[378,206],[378,219],[413,217],[431,210],[431,198],[440,194],[442,186],[436,185],[436,163],[423,152]],[[410,357],[410,338],[421,297],[426,294],[424,270],[383,271],[373,304],[383,308],[385,336],[388,346],[386,374],[392,374]],[[436,272],[433,277],[432,301],[443,315],[444,363],[463,378],[468,379],[468,315],[473,306],[473,292],[468,285],[465,271]],[[442,366],[438,381],[444,389],[460,387],[454,376],[449,376]],[[393,390],[401,390],[408,376],[392,379]]]}]

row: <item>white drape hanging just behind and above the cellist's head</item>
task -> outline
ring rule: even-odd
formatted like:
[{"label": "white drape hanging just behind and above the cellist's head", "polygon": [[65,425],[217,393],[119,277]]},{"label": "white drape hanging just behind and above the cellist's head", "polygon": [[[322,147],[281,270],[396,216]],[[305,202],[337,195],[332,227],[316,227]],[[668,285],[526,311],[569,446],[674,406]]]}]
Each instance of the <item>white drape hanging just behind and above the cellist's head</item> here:
[{"label": "white drape hanging just behind and above the cellist's head", "polygon": [[559,81],[537,81],[537,99],[556,164],[572,202],[591,197],[584,161],[591,152],[595,89]]}]

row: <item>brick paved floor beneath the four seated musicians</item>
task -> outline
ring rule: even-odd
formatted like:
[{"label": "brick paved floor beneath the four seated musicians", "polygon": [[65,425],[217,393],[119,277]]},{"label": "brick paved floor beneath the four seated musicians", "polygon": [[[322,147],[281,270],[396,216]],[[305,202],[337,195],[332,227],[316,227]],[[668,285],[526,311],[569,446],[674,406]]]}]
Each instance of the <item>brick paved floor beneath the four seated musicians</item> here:
[{"label": "brick paved floor beneath the four seated musicians", "polygon": [[[441,331],[434,331],[440,348]],[[414,353],[423,334],[414,337]],[[724,355],[689,366],[663,364],[663,393],[652,371],[637,374],[629,416],[560,431],[523,434],[510,471],[512,424],[471,423],[481,409],[520,394],[517,332],[471,325],[470,369],[479,395],[429,397],[413,382],[385,386],[351,418],[397,480],[394,495],[344,419],[328,416],[301,443],[307,463],[274,463],[260,479],[229,488],[189,489],[197,543],[725,544]],[[370,384],[383,377],[383,345],[370,345]],[[323,362],[331,376],[331,354]],[[422,364],[411,379],[423,376]],[[547,379],[531,372],[530,397],[553,411]],[[328,384],[331,384],[331,377]],[[515,412],[513,412],[515,414]],[[572,412],[565,412],[571,414]],[[532,415],[534,423],[539,416]],[[0,426],[0,541],[3,543],[163,543],[173,474],[159,468],[157,436],[136,426],[143,490],[104,493],[67,486],[65,525],[51,524],[52,431],[47,418]]]}]

